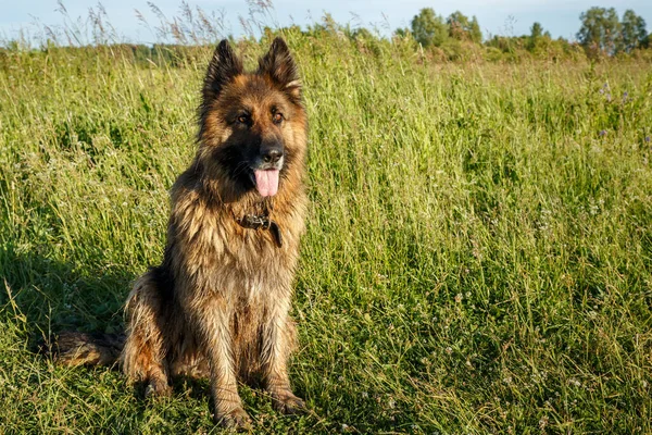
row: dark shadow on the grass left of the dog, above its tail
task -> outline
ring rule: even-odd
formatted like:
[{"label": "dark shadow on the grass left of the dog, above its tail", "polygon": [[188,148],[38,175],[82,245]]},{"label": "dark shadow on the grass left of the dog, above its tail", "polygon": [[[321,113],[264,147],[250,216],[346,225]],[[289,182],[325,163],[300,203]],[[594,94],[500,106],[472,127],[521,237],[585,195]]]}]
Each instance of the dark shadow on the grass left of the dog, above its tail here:
[{"label": "dark shadow on the grass left of the dog, above its tail", "polygon": [[123,304],[135,278],[127,266],[80,266],[9,246],[0,250],[0,310],[12,306],[26,318],[30,345],[67,330],[124,330]]}]

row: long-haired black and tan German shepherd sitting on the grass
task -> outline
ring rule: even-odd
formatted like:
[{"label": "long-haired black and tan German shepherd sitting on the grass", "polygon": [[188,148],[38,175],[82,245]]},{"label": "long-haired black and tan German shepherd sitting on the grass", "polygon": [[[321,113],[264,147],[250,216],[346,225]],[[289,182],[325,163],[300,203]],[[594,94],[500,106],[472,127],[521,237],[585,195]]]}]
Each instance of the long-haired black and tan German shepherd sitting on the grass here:
[{"label": "long-haired black and tan German shepherd sitting on the grass", "polygon": [[64,333],[59,361],[111,363],[120,356],[146,395],[170,394],[171,376],[209,376],[215,421],[229,427],[250,424],[238,380],[262,383],[277,410],[303,411],[287,365],[306,130],[285,41],[276,38],[252,73],[227,40],[220,42],[203,80],[199,148],[172,188],[164,259],[135,283],[126,336]]}]

